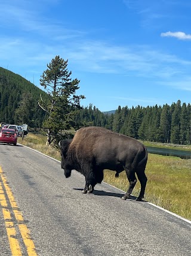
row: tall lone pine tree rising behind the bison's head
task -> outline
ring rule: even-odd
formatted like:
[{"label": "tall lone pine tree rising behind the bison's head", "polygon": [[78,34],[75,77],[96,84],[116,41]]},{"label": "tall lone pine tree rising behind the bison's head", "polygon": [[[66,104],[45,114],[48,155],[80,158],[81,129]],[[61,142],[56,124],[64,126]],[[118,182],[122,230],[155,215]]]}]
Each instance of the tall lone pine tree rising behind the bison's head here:
[{"label": "tall lone pine tree rising behind the bison's head", "polygon": [[70,78],[72,72],[67,70],[67,62],[56,56],[47,64],[41,76],[41,86],[47,91],[49,100],[41,97],[39,106],[45,111],[46,117],[43,124],[47,131],[47,144],[60,140],[63,130],[76,128],[75,115],[81,108],[79,102],[84,95],[76,95],[79,89],[79,80]]}]

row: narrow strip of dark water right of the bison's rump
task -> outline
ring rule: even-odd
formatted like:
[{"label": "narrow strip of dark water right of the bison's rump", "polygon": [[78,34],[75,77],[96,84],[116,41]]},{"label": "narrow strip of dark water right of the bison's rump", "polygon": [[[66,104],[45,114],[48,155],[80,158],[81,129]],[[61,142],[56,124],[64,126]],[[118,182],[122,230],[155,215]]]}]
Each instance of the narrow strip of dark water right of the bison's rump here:
[{"label": "narrow strip of dark water right of the bison's rump", "polygon": [[149,153],[155,153],[158,155],[169,155],[178,156],[182,159],[191,159],[191,151],[189,150],[179,150],[179,149],[167,149],[162,147],[150,147],[146,146]]}]

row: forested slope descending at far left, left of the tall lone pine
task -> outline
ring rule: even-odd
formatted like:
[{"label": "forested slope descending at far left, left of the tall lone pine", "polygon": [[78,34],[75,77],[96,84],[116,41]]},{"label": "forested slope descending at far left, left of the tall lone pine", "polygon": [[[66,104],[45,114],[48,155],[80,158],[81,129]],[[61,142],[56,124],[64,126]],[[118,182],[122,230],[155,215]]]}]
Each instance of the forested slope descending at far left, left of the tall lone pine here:
[{"label": "forested slope descending at far left, left of the tall lone pine", "polygon": [[23,77],[0,67],[0,122],[41,127],[45,113],[38,106],[44,91]]}]

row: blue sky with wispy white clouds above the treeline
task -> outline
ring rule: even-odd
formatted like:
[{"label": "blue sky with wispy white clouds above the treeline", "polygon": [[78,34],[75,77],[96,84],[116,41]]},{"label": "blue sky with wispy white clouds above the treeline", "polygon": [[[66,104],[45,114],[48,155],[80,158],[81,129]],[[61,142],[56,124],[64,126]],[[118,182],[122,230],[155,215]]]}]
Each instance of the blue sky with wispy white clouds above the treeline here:
[{"label": "blue sky with wispy white clouds above the treeline", "polygon": [[0,67],[39,86],[68,59],[81,105],[191,103],[190,0],[1,0]]}]

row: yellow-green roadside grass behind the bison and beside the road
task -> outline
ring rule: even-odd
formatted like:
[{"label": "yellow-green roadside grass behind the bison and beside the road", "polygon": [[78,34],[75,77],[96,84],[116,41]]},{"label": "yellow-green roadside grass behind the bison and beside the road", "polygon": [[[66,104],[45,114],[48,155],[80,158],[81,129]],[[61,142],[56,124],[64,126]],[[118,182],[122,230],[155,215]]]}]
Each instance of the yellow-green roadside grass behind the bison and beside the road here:
[{"label": "yellow-green roadside grass behind the bison and beside the road", "polygon": [[[60,160],[60,152],[56,148],[46,145],[47,137],[45,135],[29,132],[24,140],[18,138],[18,142]],[[152,145],[152,143],[144,144]],[[162,143],[160,146],[162,147]],[[171,147],[175,148],[172,145]],[[178,149],[183,147],[185,145],[178,146]],[[191,146],[187,147],[191,150]],[[144,198],[146,201],[191,220],[191,159],[149,153],[146,176],[148,178]],[[122,191],[127,191],[128,182],[125,171],[119,174],[119,178],[116,179],[114,171],[105,170],[104,182]],[[137,182],[133,195],[138,196],[139,192],[140,183]]]}]

